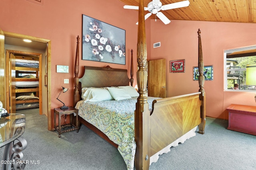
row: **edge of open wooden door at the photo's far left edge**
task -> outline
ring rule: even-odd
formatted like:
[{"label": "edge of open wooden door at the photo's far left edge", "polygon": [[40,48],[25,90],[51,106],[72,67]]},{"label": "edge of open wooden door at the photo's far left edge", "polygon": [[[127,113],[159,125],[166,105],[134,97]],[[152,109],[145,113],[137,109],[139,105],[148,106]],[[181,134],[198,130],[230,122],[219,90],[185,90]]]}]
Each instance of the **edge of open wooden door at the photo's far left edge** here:
[{"label": "edge of open wooden door at the photo's far left edge", "polygon": [[5,102],[5,58],[4,58],[4,32],[0,28],[0,101],[3,103],[3,107],[6,108]]}]

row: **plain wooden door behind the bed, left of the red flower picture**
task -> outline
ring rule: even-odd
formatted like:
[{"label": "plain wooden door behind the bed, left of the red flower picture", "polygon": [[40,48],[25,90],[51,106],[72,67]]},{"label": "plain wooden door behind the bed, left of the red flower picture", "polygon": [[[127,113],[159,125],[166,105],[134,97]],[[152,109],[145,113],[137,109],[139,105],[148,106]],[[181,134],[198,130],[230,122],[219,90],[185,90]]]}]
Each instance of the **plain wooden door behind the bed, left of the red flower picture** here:
[{"label": "plain wooden door behind the bed, left of the red flower picture", "polygon": [[165,59],[148,61],[148,96],[166,98]]}]

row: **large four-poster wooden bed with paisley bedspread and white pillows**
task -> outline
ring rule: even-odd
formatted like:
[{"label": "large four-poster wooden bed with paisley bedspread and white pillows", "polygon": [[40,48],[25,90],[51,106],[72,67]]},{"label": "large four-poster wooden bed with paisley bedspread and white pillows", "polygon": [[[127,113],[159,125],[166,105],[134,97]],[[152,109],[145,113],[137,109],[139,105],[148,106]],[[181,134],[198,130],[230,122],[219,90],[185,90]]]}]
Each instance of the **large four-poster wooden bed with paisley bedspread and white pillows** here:
[{"label": "large four-poster wooden bed with paisley bedspread and white pillows", "polygon": [[[194,136],[197,126],[198,133],[204,134],[205,127],[204,64],[200,30],[199,92],[170,98],[147,97],[143,9],[144,3],[140,0],[137,45],[138,92],[134,92],[132,87],[132,57],[131,78],[128,78],[127,70],[110,66],[84,66],[84,74],[82,78],[78,78],[79,36],[76,47],[74,106],[78,109],[78,119],[118,148],[127,169],[133,169],[134,166],[136,169],[149,169],[150,163],[155,162],[159,154],[168,152],[170,147]],[[116,97],[116,94],[124,94],[122,97],[126,98]]]}]

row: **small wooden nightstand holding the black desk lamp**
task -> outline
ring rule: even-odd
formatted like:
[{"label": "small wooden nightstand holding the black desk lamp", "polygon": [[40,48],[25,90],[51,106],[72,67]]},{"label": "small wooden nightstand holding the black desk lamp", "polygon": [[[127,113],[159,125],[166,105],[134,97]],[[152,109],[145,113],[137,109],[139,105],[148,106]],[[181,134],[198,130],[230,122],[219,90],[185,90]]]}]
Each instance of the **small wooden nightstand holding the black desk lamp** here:
[{"label": "small wooden nightstand holding the black desk lamp", "polygon": [[[71,119],[71,117],[70,117],[70,123],[60,125],[61,124],[60,118],[62,115],[70,115],[73,113],[76,113],[76,125],[74,125],[74,120]],[[59,125],[58,126],[56,126],[56,114],[59,115]],[[72,120],[72,122],[71,122],[71,120]],[[70,127],[70,129],[61,130],[61,127],[68,127],[68,126]],[[55,130],[58,131],[59,137],[60,137],[60,134],[64,133],[64,132],[74,131],[74,130],[76,130],[76,132],[78,132],[78,110],[75,109],[74,107],[68,107],[68,109],[64,109],[64,110],[62,110],[60,108],[54,108],[54,131]]]}]

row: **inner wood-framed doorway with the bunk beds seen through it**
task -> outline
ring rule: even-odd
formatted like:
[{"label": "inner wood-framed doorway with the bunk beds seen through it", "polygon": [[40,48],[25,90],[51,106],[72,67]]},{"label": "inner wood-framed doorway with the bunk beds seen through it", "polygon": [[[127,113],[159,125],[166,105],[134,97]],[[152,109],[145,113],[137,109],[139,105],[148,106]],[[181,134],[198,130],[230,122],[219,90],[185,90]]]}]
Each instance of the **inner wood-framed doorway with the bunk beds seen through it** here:
[{"label": "inner wood-framed doorway with the bunk beds seen through it", "polygon": [[39,107],[42,115],[42,54],[6,49],[6,82],[9,113]]}]

